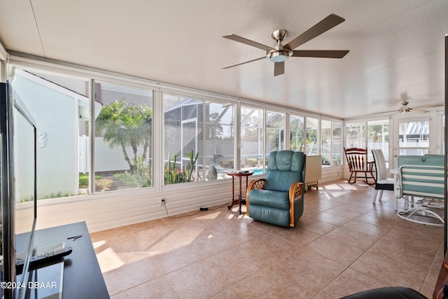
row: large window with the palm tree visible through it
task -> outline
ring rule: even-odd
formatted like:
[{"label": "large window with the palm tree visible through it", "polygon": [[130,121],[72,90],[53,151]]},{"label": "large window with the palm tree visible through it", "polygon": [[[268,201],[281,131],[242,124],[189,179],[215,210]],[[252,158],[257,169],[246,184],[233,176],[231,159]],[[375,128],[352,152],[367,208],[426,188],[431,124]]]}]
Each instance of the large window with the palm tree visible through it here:
[{"label": "large window with the palm tree visible through it", "polygon": [[105,82],[94,87],[94,191],[151,186],[152,90]]}]

